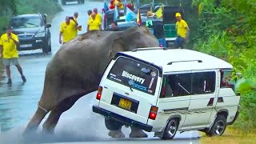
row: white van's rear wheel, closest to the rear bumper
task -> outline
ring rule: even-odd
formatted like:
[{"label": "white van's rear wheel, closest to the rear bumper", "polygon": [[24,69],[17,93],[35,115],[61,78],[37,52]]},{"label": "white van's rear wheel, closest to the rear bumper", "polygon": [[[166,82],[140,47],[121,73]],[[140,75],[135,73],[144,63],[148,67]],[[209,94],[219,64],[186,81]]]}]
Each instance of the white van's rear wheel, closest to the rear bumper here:
[{"label": "white van's rear wheel, closest to the rear bumper", "polygon": [[173,139],[178,130],[178,119],[172,118],[166,125],[162,139]]}]

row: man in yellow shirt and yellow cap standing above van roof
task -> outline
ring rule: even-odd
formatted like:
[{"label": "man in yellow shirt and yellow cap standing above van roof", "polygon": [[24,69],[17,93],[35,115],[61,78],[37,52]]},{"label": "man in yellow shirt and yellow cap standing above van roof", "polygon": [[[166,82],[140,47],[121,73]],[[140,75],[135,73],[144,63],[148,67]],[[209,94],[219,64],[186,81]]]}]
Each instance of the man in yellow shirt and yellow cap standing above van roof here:
[{"label": "man in yellow shirt and yellow cap standing above van roof", "polygon": [[187,26],[186,22],[182,19],[182,15],[180,13],[176,13],[175,17],[177,19],[176,22],[176,30],[177,30],[177,38],[175,40],[175,47],[183,48],[184,43],[187,41],[189,35],[189,26]]}]

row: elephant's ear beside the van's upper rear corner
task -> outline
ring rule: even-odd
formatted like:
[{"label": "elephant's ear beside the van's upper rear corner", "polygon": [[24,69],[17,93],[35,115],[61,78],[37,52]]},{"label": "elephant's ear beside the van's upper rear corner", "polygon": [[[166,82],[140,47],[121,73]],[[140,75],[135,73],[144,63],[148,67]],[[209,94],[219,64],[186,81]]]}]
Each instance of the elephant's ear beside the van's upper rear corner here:
[{"label": "elephant's ear beside the van's upper rear corner", "polygon": [[124,44],[123,38],[114,39],[110,46],[109,57],[114,57],[119,51],[125,51],[126,45]]}]

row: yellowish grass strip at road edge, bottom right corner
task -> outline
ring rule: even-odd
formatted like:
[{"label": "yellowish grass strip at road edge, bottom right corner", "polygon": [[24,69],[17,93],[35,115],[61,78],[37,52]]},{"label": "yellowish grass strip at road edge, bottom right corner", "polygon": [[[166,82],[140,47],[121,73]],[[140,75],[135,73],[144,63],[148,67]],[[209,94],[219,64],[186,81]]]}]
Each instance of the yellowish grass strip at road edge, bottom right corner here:
[{"label": "yellowish grass strip at road edge, bottom right corner", "polygon": [[240,130],[233,127],[227,127],[222,136],[207,137],[205,133],[200,132],[202,137],[200,143],[218,143],[218,144],[250,144],[256,143],[256,130]]}]

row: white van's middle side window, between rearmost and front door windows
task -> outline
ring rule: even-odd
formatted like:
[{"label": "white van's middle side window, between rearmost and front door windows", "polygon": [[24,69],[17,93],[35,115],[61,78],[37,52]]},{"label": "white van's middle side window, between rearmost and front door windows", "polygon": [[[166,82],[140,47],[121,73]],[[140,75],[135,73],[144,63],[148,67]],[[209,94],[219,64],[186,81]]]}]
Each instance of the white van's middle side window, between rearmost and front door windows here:
[{"label": "white van's middle side window, between rearmost and front door windows", "polygon": [[193,73],[192,76],[192,94],[208,94],[214,93],[216,73],[211,72],[201,72]]}]

